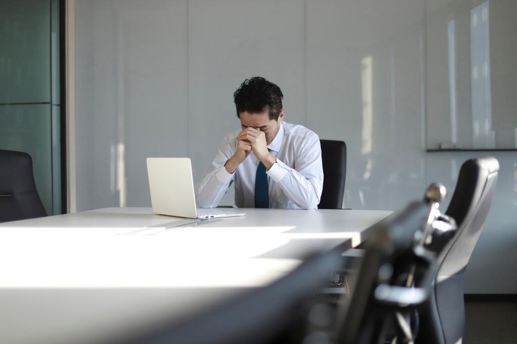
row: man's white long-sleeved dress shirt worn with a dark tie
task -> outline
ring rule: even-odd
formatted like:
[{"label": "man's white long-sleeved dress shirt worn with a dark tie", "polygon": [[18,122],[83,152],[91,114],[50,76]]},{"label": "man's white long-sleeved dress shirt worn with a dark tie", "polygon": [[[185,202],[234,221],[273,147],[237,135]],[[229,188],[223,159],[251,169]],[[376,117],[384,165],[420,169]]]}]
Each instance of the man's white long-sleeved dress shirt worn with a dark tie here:
[{"label": "man's white long-sleeved dress shirt worn with a dark tie", "polygon": [[[196,187],[199,208],[217,207],[230,184],[235,182],[235,205],[255,207],[255,174],[258,160],[253,151],[229,174],[224,164],[237,150],[241,130],[226,135],[205,178]],[[266,172],[269,208],[317,209],[323,189],[320,138],[313,131],[283,122],[267,146],[277,162]]]}]

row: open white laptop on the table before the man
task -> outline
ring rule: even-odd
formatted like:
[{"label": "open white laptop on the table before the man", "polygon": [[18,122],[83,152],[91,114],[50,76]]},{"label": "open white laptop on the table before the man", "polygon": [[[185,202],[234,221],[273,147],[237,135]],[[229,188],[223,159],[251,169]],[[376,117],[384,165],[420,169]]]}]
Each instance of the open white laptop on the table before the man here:
[{"label": "open white laptop on the table before the man", "polygon": [[147,158],[153,212],[190,218],[242,216],[235,210],[196,209],[189,158]]}]

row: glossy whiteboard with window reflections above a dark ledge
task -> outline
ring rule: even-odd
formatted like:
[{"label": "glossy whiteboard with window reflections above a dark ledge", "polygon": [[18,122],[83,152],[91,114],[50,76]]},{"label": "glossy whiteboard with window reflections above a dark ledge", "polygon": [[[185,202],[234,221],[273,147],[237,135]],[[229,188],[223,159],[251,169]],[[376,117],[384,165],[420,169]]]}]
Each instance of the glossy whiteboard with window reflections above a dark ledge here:
[{"label": "glossy whiteboard with window reflections above a dark ledge", "polygon": [[449,3],[426,13],[427,149],[517,149],[517,2]]}]

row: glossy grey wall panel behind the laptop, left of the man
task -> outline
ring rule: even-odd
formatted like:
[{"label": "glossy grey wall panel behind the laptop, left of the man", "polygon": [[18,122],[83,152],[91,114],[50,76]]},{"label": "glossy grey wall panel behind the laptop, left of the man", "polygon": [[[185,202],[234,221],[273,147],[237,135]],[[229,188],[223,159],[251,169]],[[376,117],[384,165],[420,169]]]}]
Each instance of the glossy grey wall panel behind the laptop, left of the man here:
[{"label": "glossy grey wall panel behind the laptop, left of the man", "polygon": [[145,159],[189,154],[187,4],[75,10],[77,209],[150,206]]}]

